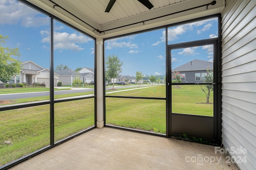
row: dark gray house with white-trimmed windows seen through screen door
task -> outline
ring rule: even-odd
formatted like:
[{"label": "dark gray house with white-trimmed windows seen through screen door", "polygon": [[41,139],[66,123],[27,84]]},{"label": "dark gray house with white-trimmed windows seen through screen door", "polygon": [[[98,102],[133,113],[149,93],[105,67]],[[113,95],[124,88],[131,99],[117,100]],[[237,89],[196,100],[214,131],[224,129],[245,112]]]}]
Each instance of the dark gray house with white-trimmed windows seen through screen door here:
[{"label": "dark gray house with white-trimmed windows seen through screen door", "polygon": [[202,83],[207,75],[207,70],[212,69],[213,62],[194,59],[172,69],[172,74],[180,72],[182,83]]}]

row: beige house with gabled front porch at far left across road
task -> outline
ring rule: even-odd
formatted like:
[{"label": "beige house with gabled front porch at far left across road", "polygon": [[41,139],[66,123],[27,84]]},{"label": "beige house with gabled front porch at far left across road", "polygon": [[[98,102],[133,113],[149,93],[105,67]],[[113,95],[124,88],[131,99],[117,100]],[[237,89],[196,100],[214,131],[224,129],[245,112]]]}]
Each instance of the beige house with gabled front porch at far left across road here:
[{"label": "beige house with gabled front porch at far left across road", "polygon": [[[13,76],[8,82],[9,84],[24,83],[32,85],[34,83],[44,83],[46,87],[50,87],[50,70],[43,68],[32,61],[21,63],[20,74]],[[59,75],[54,73],[54,86],[57,86]],[[0,82],[2,83],[2,82]]]}]

